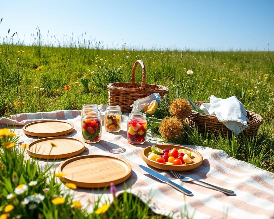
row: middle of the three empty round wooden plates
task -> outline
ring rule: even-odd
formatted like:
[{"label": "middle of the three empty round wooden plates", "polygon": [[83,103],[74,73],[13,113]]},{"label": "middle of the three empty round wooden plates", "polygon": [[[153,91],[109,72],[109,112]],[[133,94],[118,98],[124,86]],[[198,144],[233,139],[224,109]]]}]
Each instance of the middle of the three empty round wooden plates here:
[{"label": "middle of the three empty round wooden plates", "polygon": [[[52,147],[51,143],[57,145]],[[27,153],[32,157],[42,159],[62,159],[72,157],[85,150],[82,140],[70,137],[49,137],[35,140],[27,147]]]}]

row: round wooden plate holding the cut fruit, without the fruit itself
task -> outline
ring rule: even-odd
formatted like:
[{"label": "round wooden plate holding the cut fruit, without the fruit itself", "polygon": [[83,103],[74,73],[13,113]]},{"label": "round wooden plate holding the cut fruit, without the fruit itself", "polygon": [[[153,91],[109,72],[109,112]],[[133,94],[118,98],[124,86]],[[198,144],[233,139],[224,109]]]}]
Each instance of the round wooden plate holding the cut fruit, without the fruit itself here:
[{"label": "round wooden plate holding the cut fruit, without the fruit itself", "polygon": [[152,161],[148,159],[148,153],[151,151],[151,146],[144,148],[142,151],[142,159],[150,166],[161,169],[161,170],[173,170],[173,171],[187,171],[192,170],[197,167],[199,167],[203,162],[203,156],[198,152],[188,147],[178,146],[178,145],[152,145],[156,146],[160,149],[169,149],[177,148],[177,149],[187,149],[191,152],[191,159],[192,163],[190,164],[183,164],[183,165],[172,165],[172,164],[164,164],[164,163],[158,163],[156,161]]}]

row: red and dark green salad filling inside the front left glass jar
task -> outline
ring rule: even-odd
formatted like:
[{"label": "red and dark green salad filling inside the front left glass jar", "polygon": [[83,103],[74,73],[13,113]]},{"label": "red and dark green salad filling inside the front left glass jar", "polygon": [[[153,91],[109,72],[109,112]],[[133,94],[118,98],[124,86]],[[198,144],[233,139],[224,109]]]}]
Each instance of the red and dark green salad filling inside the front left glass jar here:
[{"label": "red and dark green salad filling inside the front left glass jar", "polygon": [[98,119],[82,119],[82,137],[86,142],[98,142],[101,138],[101,122]]}]

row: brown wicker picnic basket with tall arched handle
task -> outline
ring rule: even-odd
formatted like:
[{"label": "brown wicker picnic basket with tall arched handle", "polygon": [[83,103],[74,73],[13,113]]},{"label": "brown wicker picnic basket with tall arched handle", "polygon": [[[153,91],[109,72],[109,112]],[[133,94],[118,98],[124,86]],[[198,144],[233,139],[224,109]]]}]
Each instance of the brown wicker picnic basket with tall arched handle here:
[{"label": "brown wicker picnic basket with tall arched handle", "polygon": [[[142,66],[142,83],[135,83],[135,70]],[[153,93],[159,93],[161,97],[169,92],[162,85],[146,84],[146,66],[142,60],[137,60],[132,68],[131,83],[110,83],[108,88],[108,104],[121,106],[122,113],[131,112],[130,105],[138,98],[144,98]]]}]

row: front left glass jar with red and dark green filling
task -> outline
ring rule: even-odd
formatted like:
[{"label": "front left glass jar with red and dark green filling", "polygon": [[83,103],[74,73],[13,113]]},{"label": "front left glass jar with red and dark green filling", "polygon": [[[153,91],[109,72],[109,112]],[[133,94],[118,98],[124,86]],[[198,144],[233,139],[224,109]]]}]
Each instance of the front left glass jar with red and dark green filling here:
[{"label": "front left glass jar with red and dark green filling", "polygon": [[100,141],[102,135],[102,119],[99,111],[83,112],[82,115],[82,139],[86,143]]}]

